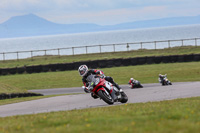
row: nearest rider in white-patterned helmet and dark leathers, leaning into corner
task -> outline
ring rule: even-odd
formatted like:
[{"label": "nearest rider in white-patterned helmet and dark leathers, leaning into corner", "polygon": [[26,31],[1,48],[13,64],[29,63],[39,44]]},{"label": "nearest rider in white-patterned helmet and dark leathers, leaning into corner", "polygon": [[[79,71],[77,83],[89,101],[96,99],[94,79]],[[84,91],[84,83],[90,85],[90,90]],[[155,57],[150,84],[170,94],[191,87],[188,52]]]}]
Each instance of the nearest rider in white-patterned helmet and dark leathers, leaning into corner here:
[{"label": "nearest rider in white-patterned helmet and dark leathers, leaning into corner", "polygon": [[[113,78],[110,77],[110,76],[105,76],[103,71],[101,70],[97,70],[97,69],[91,69],[91,70],[88,70],[88,67],[86,65],[81,65],[79,68],[78,68],[78,72],[79,74],[83,77],[82,78],[82,81],[83,81],[83,84],[84,84],[84,91],[86,93],[89,93],[89,90],[88,90],[88,82],[87,82],[87,77],[91,74],[95,74],[95,75],[100,75],[101,77],[103,77],[106,81],[110,82],[113,84],[113,86],[115,86],[120,92],[123,92],[122,89],[119,87],[119,85],[117,83],[114,82]],[[91,93],[91,96],[93,98],[98,98],[95,94]]]}]

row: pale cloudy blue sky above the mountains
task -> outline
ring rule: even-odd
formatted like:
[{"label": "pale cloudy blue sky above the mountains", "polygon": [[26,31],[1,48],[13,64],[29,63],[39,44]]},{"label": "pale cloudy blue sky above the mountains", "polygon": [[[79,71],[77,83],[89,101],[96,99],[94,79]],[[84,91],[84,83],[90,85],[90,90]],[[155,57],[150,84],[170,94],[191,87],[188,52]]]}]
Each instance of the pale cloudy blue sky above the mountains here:
[{"label": "pale cloudy blue sky above the mountains", "polygon": [[0,23],[33,13],[60,24],[124,22],[200,15],[200,0],[0,0]]}]

